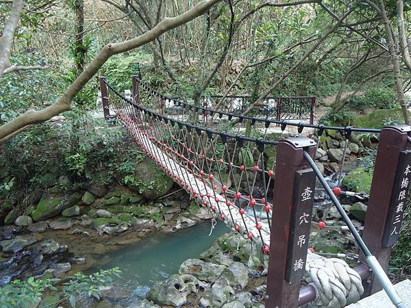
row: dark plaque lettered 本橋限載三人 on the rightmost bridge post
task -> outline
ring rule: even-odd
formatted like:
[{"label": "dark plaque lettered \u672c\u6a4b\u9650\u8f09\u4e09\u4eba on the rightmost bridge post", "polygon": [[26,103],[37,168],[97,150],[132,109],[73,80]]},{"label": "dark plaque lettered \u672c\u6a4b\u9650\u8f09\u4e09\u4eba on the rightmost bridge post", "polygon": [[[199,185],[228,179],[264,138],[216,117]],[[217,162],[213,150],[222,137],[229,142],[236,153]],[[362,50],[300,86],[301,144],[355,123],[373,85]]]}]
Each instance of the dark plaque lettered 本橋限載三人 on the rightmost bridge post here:
[{"label": "dark plaque lettered \u672c\u6a4b\u9650\u8f09\u4e09\u4eba on the rightmost bridge post", "polygon": [[401,151],[395,174],[395,185],[391,195],[390,208],[386,219],[383,244],[386,247],[393,246],[399,238],[401,222],[406,209],[408,190],[411,180],[411,151]]}]

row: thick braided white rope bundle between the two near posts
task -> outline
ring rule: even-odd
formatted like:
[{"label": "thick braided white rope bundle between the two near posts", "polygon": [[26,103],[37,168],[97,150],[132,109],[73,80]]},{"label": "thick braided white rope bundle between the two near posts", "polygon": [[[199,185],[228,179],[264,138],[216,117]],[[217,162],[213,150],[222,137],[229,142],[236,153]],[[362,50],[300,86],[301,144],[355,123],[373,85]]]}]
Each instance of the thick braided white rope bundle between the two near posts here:
[{"label": "thick braided white rope bundle between the two near posts", "polygon": [[358,272],[341,259],[308,260],[305,279],[316,290],[316,299],[309,307],[345,307],[356,303],[364,292]]}]

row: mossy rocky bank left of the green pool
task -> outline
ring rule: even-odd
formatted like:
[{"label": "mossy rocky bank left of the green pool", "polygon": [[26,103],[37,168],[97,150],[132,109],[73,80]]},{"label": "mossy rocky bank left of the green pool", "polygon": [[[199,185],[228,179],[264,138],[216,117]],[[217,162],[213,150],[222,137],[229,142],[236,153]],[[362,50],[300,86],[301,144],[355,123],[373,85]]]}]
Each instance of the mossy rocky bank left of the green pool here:
[{"label": "mossy rocky bank left of the green pool", "polygon": [[[65,203],[60,202],[62,197],[43,197],[32,216],[18,216],[15,224],[0,227],[1,285],[30,276],[74,274],[92,268],[97,261],[99,265],[110,261],[106,253],[134,244],[149,233],[173,233],[210,218],[207,209],[190,203],[182,191],[155,203],[125,187],[114,186],[105,194],[104,190],[92,191],[95,194],[76,192]],[[72,205],[74,200],[76,205]],[[40,214],[42,218],[50,215],[50,204],[62,205],[61,213],[34,222]]]}]

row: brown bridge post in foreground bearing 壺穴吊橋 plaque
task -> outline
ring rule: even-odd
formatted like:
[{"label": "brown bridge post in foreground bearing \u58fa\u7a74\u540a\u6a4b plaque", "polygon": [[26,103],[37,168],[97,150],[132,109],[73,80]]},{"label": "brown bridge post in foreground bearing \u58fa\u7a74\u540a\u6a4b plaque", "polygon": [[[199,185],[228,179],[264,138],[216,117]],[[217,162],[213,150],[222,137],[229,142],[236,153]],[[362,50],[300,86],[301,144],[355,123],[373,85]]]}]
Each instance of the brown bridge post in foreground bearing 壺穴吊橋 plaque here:
[{"label": "brown bridge post in foreground bearing \u58fa\u7a74\u540a\u6a4b plaque", "polygon": [[[314,172],[307,169],[308,162],[303,156],[304,149],[313,158],[315,157],[316,143],[310,138],[288,138],[277,145],[269,272],[265,300],[267,308],[297,307],[299,299],[301,278],[305,271],[307,257],[310,227],[308,222],[311,219],[315,184]],[[304,177],[303,180],[302,177]],[[301,188],[309,192],[306,195],[308,198],[301,199]],[[306,232],[303,238],[304,245],[299,245],[301,242],[295,241],[296,239],[301,240],[301,235],[298,236],[295,232],[296,219],[298,219],[296,217],[301,216],[297,214],[297,208],[305,209],[304,214],[306,215],[303,218],[308,218],[308,220],[303,220],[303,226],[308,226],[308,234],[304,231]],[[297,227],[298,224],[297,222]],[[297,251],[297,254],[300,254],[297,259],[301,259],[298,271],[293,270],[295,267],[290,268],[291,259],[294,263],[296,245],[300,248]],[[292,272],[291,277],[290,271]]]}]

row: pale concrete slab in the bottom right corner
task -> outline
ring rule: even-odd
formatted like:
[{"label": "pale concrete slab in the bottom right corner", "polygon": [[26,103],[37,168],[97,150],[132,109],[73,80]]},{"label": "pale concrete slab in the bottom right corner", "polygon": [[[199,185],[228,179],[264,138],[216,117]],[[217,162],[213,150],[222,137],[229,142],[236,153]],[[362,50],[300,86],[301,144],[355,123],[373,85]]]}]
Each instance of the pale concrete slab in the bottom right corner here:
[{"label": "pale concrete slab in the bottom right corner", "polygon": [[[403,300],[406,307],[411,307],[411,281],[409,279],[401,281],[394,285],[395,290],[397,290],[399,297]],[[380,291],[372,296],[366,297],[360,300],[358,303],[351,304],[347,306],[349,308],[395,308],[393,303],[391,303],[390,298],[388,298],[386,292]]]}]

